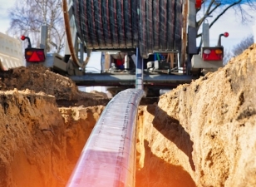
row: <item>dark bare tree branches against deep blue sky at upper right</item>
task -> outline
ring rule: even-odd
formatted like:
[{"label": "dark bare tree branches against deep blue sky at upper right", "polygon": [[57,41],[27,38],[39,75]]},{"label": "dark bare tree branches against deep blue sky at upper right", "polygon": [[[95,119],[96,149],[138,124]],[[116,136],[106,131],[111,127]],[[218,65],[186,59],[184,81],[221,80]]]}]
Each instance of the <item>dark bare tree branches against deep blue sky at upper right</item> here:
[{"label": "dark bare tree branches against deep blue sky at upper right", "polygon": [[[207,17],[212,17],[216,12],[218,12],[218,15],[214,17],[212,22],[209,22],[209,28],[212,27],[214,23],[217,22],[219,18],[231,8],[233,8],[236,14],[241,17],[242,22],[252,20],[253,16],[246,12],[242,5],[249,7],[251,10],[256,10],[256,3],[254,0],[203,0],[202,7],[204,7],[204,12],[198,16],[199,18],[196,22],[196,27],[198,29],[197,37],[202,37],[202,33],[199,32],[199,28],[204,23],[204,20]],[[198,14],[199,12],[202,12],[200,10],[201,9],[197,10]],[[201,46],[201,43],[199,46]]]}]

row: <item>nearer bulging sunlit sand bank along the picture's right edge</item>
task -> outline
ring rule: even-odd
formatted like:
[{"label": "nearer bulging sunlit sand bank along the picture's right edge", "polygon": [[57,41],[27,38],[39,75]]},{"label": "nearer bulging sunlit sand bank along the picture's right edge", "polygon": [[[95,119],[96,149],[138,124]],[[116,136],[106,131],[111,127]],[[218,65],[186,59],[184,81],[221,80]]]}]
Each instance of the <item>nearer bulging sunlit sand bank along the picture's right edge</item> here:
[{"label": "nearer bulging sunlit sand bank along the picture's right edge", "polygon": [[[255,72],[256,45],[219,71],[160,97],[154,112],[155,130],[166,136],[174,123],[180,124],[178,129],[182,126],[187,147],[176,139],[169,140],[185,150],[185,163],[177,164],[197,186],[256,186]],[[157,141],[149,143],[152,152]],[[180,162],[184,160],[170,146],[167,150]]]}]

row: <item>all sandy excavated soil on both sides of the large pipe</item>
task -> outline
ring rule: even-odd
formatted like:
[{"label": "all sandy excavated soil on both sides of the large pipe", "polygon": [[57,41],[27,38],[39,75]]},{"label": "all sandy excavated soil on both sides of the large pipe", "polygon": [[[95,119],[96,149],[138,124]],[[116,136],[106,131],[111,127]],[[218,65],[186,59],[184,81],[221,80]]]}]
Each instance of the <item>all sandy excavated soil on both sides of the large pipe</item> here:
[{"label": "all sandy excavated soil on both sides of the large pipe", "polygon": [[[256,186],[256,46],[140,106],[136,186]],[[43,67],[1,74],[0,186],[65,186],[107,103]]]}]

